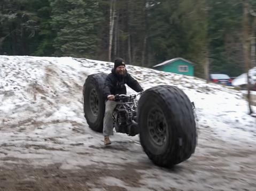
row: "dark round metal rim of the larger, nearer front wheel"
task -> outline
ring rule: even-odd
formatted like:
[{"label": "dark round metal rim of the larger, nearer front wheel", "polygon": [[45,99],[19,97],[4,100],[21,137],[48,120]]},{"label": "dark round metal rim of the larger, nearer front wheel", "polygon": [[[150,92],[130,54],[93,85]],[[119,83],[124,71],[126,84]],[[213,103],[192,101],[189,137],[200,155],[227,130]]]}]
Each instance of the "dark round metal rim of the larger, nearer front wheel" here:
[{"label": "dark round metal rim of the larger, nearer front wheel", "polygon": [[148,129],[152,142],[163,147],[166,144],[167,122],[164,113],[159,109],[153,108],[148,114]]}]

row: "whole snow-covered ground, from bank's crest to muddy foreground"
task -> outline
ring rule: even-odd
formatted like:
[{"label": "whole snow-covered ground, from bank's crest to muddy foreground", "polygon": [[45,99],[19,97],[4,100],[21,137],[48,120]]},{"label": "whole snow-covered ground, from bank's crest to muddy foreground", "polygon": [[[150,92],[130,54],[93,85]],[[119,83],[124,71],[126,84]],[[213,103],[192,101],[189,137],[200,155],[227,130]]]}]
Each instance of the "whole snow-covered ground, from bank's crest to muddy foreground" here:
[{"label": "whole snow-covered ground, from bank's crest to muddy foreground", "polygon": [[127,65],[144,89],[177,86],[197,107],[196,152],[164,169],[152,164],[137,136],[115,134],[105,147],[102,134],[88,128],[83,83],[91,73],[109,73],[113,63],[0,56],[0,67],[0,190],[256,188],[256,118],[232,88]]}]

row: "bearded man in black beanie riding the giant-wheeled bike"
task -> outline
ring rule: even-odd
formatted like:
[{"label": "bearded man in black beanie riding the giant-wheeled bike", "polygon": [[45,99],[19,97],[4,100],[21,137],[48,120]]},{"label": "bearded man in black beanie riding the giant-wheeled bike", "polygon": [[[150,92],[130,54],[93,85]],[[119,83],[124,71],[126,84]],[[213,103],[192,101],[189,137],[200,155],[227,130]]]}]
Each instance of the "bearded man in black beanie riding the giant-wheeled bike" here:
[{"label": "bearded man in black beanie riding the giant-wheeled bike", "polygon": [[104,85],[104,95],[106,97],[106,109],[103,121],[103,136],[104,144],[110,145],[110,137],[113,135],[113,119],[112,114],[117,103],[114,101],[116,94],[126,94],[127,84],[131,89],[136,92],[142,92],[142,87],[138,84],[137,80],[127,73],[125,62],[119,58],[114,61],[114,68],[108,74]]}]

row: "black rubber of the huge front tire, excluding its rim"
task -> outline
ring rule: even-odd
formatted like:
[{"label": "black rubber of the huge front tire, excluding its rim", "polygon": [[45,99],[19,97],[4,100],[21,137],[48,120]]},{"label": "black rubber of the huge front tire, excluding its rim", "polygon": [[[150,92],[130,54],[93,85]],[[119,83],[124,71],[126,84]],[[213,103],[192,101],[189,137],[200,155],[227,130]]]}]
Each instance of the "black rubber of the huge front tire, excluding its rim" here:
[{"label": "black rubber of the huge front tire, excluding its rim", "polygon": [[[146,112],[143,107],[150,107],[152,96],[157,99],[157,103],[160,103],[159,106],[165,113],[167,126],[170,128],[168,132],[171,138],[165,152],[161,154],[150,152],[146,140],[149,139],[149,136],[144,135],[146,122],[143,118],[145,118],[145,114],[141,112]],[[160,85],[152,87],[142,94],[138,103],[138,124],[141,145],[149,158],[157,165],[172,167],[188,159],[195,152],[197,134],[192,104],[188,96],[175,86]],[[182,145],[179,144],[179,139],[182,140]]]}]

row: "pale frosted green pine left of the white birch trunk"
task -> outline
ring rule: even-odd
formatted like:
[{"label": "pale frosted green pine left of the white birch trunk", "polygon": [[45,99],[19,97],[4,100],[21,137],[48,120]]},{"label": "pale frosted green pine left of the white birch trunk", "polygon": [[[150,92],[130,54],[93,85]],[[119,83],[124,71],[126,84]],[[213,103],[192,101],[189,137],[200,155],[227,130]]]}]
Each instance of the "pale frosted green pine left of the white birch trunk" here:
[{"label": "pale frosted green pine left of the white birch trunk", "polygon": [[97,24],[102,19],[96,0],[50,0],[55,55],[89,57],[97,49]]}]

